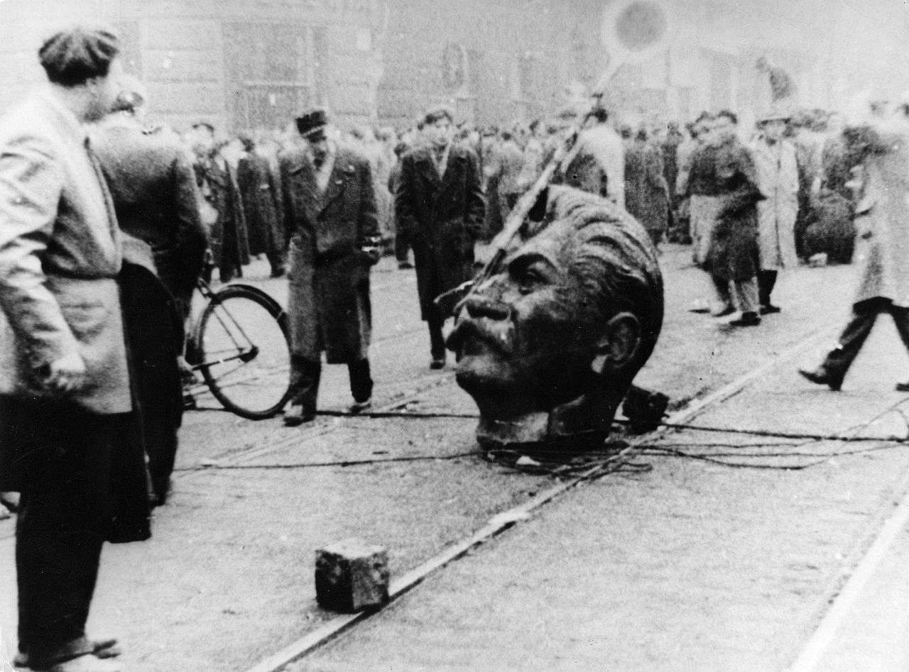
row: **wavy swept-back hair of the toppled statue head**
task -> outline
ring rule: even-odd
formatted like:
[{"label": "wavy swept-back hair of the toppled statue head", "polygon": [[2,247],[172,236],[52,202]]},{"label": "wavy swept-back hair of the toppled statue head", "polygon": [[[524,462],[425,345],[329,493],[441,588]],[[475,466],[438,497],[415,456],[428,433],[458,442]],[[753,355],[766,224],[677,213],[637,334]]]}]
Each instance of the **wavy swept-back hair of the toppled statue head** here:
[{"label": "wavy swept-back hair of the toppled statue head", "polygon": [[641,323],[636,372],[650,357],[663,327],[663,276],[644,227],[599,196],[549,187],[546,221],[538,235],[564,239],[564,262],[580,278],[598,321],[628,311]]}]

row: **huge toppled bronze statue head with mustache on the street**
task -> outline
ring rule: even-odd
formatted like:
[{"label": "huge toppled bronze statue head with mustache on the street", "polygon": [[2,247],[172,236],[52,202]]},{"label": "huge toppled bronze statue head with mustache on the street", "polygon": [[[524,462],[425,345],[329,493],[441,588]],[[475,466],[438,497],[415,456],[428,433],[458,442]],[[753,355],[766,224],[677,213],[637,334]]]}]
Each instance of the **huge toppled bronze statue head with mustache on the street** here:
[{"label": "huge toppled bronze statue head with mustache on the street", "polygon": [[535,234],[461,302],[448,340],[485,447],[602,443],[663,324],[656,253],[630,215],[555,186],[536,210]]}]

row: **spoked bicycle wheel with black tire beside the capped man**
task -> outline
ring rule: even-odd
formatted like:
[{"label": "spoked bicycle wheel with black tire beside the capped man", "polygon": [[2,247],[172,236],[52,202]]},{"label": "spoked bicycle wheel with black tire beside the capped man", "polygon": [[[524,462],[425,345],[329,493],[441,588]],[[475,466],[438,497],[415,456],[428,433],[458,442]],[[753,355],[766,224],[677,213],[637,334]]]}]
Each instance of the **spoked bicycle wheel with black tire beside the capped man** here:
[{"label": "spoked bicycle wheel with black tire beside the capped man", "polygon": [[195,332],[195,369],[225,409],[250,420],[271,418],[290,399],[287,313],[255,287],[215,292]]}]

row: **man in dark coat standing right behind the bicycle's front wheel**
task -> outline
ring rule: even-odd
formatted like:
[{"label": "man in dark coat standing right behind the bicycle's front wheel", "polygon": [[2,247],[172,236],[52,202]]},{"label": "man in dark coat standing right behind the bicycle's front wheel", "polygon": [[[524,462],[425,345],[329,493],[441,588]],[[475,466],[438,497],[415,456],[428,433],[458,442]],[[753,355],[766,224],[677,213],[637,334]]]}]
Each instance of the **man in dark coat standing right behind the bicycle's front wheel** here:
[{"label": "man in dark coat standing right behind the bicycle's front wheel", "polygon": [[235,276],[242,278],[249,263],[249,234],[236,172],[221,155],[211,124],[194,124],[193,130],[195,183],[216,215],[208,232],[212,255],[219,279],[230,282]]}]

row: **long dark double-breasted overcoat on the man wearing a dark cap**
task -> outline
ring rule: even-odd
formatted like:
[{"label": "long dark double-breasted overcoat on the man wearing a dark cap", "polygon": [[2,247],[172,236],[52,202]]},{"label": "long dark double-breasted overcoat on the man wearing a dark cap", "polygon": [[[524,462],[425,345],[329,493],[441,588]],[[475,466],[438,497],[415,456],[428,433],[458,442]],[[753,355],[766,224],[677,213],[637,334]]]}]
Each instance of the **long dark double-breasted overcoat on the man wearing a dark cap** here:
[{"label": "long dark double-breasted overcoat on the man wearing a dark cap", "polygon": [[338,146],[335,167],[320,193],[303,149],[280,156],[287,232],[290,235],[291,351],[330,364],[362,360],[372,328],[371,260],[363,249],[379,242],[368,160]]}]

